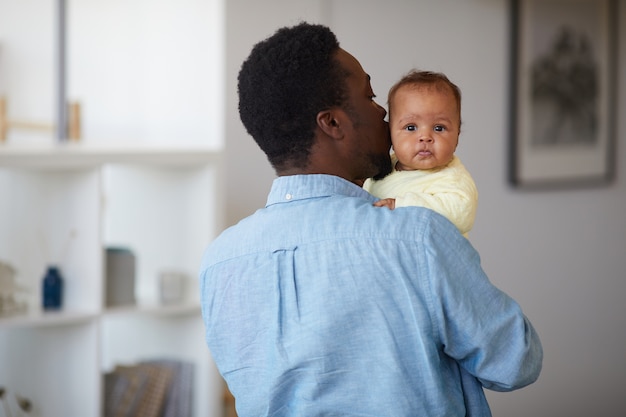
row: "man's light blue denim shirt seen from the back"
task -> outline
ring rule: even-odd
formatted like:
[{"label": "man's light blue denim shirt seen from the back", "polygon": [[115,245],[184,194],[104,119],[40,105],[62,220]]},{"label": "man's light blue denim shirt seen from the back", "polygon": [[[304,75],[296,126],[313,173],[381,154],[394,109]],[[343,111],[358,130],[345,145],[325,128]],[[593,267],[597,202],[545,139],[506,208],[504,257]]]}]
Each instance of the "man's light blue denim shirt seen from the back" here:
[{"label": "man's light blue denim shirt seen from the back", "polygon": [[279,177],[207,249],[206,340],[240,417],[489,416],[482,386],[537,379],[535,330],[456,227],[374,201]]}]

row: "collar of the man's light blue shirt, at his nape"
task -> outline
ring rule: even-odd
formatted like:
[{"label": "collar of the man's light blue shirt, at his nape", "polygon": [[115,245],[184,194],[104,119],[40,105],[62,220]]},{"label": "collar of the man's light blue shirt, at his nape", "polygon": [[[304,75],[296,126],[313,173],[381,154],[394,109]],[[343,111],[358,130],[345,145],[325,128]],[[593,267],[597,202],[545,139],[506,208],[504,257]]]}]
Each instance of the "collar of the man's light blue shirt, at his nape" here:
[{"label": "collar of the man's light blue shirt, at his nape", "polygon": [[288,175],[278,177],[272,183],[266,207],[308,198],[342,195],[365,198],[374,202],[376,197],[356,184],[341,177],[326,174]]}]

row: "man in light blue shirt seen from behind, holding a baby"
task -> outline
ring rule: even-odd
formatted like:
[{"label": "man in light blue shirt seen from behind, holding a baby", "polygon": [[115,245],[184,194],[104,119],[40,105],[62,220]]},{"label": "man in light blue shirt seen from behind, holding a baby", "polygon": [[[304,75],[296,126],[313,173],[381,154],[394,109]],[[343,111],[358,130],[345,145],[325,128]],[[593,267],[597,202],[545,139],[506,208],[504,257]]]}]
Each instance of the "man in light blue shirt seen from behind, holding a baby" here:
[{"label": "man in light blue shirt seen from behind, holding a baby", "polygon": [[207,343],[240,417],[488,416],[483,386],[538,377],[532,325],[456,227],[361,189],[390,169],[373,99],[324,26],[282,28],[242,65],[240,116],[278,178],[200,272]]}]

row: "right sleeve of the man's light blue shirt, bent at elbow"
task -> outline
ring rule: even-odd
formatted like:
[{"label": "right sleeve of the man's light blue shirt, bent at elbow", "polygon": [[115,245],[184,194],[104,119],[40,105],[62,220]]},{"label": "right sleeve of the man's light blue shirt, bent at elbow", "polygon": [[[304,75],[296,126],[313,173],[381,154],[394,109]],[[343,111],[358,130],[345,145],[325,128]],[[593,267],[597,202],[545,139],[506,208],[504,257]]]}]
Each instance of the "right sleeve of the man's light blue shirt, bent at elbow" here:
[{"label": "right sleeve of the man's light blue shirt, bent at elbow", "polygon": [[469,241],[445,227],[435,229],[428,276],[433,326],[444,353],[485,388],[512,391],[533,383],[543,349],[531,322],[515,300],[491,284]]}]

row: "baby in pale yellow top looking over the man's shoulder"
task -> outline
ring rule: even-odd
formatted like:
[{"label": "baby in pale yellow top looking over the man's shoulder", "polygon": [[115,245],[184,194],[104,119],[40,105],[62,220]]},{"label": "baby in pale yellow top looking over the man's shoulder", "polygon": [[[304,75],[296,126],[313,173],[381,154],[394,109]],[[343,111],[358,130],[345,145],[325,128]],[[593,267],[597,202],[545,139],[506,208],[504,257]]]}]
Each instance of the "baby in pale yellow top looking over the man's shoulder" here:
[{"label": "baby in pale yellow top looking over the man's shoulder", "polygon": [[363,188],[379,207],[422,206],[437,211],[467,237],[478,191],[454,154],[461,131],[461,92],[444,74],[411,71],[389,90],[393,170]]}]

